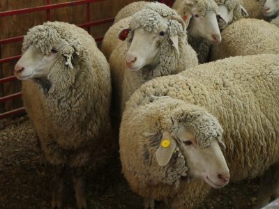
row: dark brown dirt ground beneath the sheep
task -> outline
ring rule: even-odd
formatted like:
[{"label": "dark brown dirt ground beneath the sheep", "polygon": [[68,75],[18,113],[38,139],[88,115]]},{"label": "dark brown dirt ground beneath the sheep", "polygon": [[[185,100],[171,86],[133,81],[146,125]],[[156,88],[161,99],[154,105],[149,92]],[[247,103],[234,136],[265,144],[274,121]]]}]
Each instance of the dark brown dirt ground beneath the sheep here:
[{"label": "dark brown dirt ground beneath the sheep", "polygon": [[[42,173],[36,137],[27,116],[0,121],[0,208],[50,208],[52,168]],[[67,171],[63,209],[75,208],[71,173]],[[251,208],[256,201],[259,180],[230,183],[214,189],[202,208]],[[118,157],[102,168],[86,171],[89,208],[143,208],[121,174]],[[166,208],[157,202],[156,208]]]}]

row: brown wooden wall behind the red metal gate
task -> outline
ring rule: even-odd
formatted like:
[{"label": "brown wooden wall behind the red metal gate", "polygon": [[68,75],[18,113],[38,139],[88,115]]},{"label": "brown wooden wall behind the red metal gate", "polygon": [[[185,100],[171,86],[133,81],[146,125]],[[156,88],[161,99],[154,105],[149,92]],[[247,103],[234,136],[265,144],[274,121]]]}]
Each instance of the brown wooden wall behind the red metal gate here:
[{"label": "brown wooden wall behind the red metal gate", "polygon": [[[50,3],[62,3],[74,0],[52,0]],[[31,8],[35,6],[45,5],[45,0],[0,0],[0,12],[6,10],[15,10],[20,8]],[[133,0],[106,0],[90,4],[91,17],[90,21],[115,17],[116,13]],[[86,5],[59,8],[50,11],[51,21],[63,21],[74,24],[82,24],[86,22]],[[0,39],[12,38],[14,36],[25,35],[29,28],[42,24],[46,20],[46,12],[40,11],[36,13],[13,15],[12,17],[0,17]],[[93,37],[103,36],[111,23],[93,26],[90,34]],[[15,56],[21,54],[21,42],[0,45],[0,58]],[[13,75],[13,67],[16,61],[11,63],[0,64],[0,78]],[[0,84],[0,97],[17,93],[20,91],[20,82],[8,82]],[[13,100],[0,104],[0,113],[9,111],[22,106],[21,100]]]}]

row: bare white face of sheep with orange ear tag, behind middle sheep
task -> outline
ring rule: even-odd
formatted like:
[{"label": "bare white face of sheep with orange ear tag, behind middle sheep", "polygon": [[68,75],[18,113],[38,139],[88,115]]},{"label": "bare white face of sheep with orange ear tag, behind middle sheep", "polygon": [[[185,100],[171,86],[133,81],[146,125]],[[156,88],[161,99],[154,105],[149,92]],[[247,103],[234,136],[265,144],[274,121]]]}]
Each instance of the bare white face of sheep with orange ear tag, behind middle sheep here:
[{"label": "bare white face of sheep with orange ear tag, behind middle sheep", "polygon": [[188,32],[191,36],[205,38],[213,45],[221,42],[218,21],[225,22],[225,20],[220,15],[216,15],[213,11],[207,11],[205,15],[202,15],[197,8],[193,8],[191,13],[184,15],[184,20],[186,20],[186,25],[187,21],[189,22]]}]

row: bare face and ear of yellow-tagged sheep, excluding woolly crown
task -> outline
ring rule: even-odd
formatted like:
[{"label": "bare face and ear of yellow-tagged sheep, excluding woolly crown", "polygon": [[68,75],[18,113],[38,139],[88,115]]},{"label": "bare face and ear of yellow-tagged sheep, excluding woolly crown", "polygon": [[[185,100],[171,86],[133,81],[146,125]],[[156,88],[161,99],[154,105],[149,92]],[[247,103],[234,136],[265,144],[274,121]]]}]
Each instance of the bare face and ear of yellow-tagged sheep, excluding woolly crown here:
[{"label": "bare face and ear of yellow-tagged sheep, excluding woolly crown", "polygon": [[211,187],[220,188],[229,183],[229,169],[221,150],[224,147],[223,142],[216,139],[209,146],[201,147],[188,130],[182,130],[176,137],[164,132],[156,151],[156,159],[160,166],[165,166],[172,155],[181,150],[186,157],[188,177],[202,178]]}]

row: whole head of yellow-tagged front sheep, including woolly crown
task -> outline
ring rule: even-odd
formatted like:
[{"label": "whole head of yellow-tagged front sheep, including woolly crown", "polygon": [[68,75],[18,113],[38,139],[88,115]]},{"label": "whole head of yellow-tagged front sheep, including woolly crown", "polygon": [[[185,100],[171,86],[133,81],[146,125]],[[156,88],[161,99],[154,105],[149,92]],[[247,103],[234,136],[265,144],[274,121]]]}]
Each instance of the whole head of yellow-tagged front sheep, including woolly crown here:
[{"label": "whole head of yellow-tagged front sheep, including woolly crown", "polygon": [[156,150],[156,160],[164,167],[181,152],[186,159],[187,175],[202,178],[219,188],[229,182],[229,169],[222,150],[223,129],[218,120],[203,109],[191,104],[175,107],[160,124],[163,134]]}]

